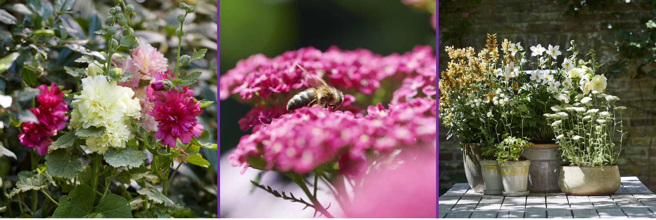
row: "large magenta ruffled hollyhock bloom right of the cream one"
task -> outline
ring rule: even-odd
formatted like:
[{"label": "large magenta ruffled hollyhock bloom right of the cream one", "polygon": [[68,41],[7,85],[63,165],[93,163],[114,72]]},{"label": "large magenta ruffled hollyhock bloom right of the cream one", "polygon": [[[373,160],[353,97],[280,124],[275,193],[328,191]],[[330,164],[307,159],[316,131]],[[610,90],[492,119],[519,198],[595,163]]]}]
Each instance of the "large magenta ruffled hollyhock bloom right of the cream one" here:
[{"label": "large magenta ruffled hollyhock bloom right of the cream one", "polygon": [[155,137],[162,140],[162,145],[174,148],[178,137],[182,143],[189,143],[192,137],[200,136],[204,128],[196,119],[203,113],[200,103],[175,90],[163,92],[163,96],[164,99],[156,100],[148,111],[159,122]]}]

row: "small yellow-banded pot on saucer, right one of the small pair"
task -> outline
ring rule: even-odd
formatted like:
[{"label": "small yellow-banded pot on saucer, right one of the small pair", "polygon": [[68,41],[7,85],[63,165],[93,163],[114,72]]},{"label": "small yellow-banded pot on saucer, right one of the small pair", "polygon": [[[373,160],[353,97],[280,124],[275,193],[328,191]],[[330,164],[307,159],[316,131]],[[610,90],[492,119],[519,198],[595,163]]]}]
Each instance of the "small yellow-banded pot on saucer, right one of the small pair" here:
[{"label": "small yellow-banded pot on saucer, right one of the small pair", "polygon": [[526,196],[531,160],[499,162],[504,196]]}]

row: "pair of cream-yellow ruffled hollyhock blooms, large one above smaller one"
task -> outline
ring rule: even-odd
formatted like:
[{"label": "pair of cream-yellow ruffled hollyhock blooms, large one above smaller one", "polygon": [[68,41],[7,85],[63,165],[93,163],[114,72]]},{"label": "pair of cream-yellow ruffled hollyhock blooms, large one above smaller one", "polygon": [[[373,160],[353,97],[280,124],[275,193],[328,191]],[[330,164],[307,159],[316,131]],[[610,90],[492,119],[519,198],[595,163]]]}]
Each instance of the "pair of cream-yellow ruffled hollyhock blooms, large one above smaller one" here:
[{"label": "pair of cream-yellow ruffled hollyhock blooms, large one above smaller one", "polygon": [[141,105],[131,88],[119,86],[104,75],[82,79],[83,89],[73,96],[70,124],[73,128],[104,127],[100,137],[87,138],[89,150],[104,153],[109,147],[125,148],[133,137],[130,119],[139,119]]}]

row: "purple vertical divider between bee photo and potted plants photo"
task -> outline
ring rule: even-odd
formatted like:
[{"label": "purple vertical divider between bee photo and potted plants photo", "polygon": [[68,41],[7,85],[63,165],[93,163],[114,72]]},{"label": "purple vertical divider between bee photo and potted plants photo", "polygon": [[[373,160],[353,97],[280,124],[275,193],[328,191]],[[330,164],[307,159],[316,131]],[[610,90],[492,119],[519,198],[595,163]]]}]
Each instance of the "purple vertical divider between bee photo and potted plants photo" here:
[{"label": "purple vertical divider between bee photo and potted plants photo", "polygon": [[[438,160],[435,163],[435,166],[436,166],[435,170],[437,170],[437,172],[440,172],[440,104],[439,104],[440,103],[440,86],[439,86],[440,85],[440,62],[438,62],[438,60],[440,60],[440,0],[436,1],[436,3],[435,3],[435,20],[436,20],[435,21],[435,58],[436,58],[435,66],[436,66],[436,69],[437,69],[437,71],[435,71],[435,74],[438,77],[438,80],[436,81],[436,85],[435,85],[435,88],[438,88],[438,92],[435,94],[435,100],[438,101],[438,105],[435,106],[436,108],[438,108],[438,115],[437,115],[437,117],[435,117],[436,120],[438,120],[438,123],[436,124],[436,126],[438,126],[436,128],[436,130],[438,132],[435,132],[435,138],[438,140],[438,141],[436,141],[436,143],[438,144],[436,146],[436,150],[438,151],[436,156],[438,157]],[[435,198],[436,200],[438,200],[436,202],[436,207],[435,207],[435,209],[437,210],[435,212],[436,213],[435,218],[437,219],[437,218],[440,217],[440,208],[439,208],[440,207],[440,199],[439,199],[440,198],[439,197],[440,196],[440,174],[439,173],[436,175],[435,183],[436,183],[435,187],[437,188],[437,189],[435,189],[435,191],[436,191],[436,193],[438,193],[436,198]]]}]

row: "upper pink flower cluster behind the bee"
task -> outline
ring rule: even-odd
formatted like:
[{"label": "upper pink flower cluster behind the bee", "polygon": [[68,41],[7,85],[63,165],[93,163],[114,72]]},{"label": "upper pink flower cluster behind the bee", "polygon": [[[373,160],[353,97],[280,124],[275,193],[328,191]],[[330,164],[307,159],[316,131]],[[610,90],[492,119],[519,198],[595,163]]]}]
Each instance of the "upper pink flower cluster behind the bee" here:
[{"label": "upper pink flower cluster behind the bee", "polygon": [[[333,46],[325,52],[307,47],[287,51],[275,58],[262,54],[240,60],[220,79],[220,99],[239,94],[242,101],[281,105],[301,87],[308,87],[301,65],[317,78],[344,90],[345,94],[371,94],[386,77],[403,75],[402,88],[394,92],[395,101],[409,100],[421,90],[426,96],[436,94],[436,58],[430,46],[415,46],[412,52],[380,56],[365,49],[340,50]],[[407,75],[407,78],[405,77]],[[325,76],[325,77],[324,77]],[[276,97],[270,98],[275,95]]]}]

